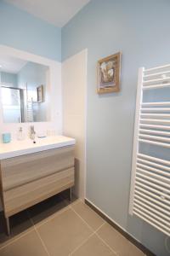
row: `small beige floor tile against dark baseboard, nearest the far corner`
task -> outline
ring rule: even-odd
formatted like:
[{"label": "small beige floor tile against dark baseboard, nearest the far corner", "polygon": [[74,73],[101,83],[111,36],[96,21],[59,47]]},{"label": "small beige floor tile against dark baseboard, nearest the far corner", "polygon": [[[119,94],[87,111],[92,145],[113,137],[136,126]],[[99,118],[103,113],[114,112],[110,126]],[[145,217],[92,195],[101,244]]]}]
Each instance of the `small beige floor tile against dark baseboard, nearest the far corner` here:
[{"label": "small beige floor tile against dark baseboard, nearest the far corner", "polygon": [[94,210],[88,207],[86,204],[82,203],[82,201],[77,204],[71,205],[71,207],[77,212],[93,229],[97,230],[99,226],[105,223],[104,219],[101,218]]}]

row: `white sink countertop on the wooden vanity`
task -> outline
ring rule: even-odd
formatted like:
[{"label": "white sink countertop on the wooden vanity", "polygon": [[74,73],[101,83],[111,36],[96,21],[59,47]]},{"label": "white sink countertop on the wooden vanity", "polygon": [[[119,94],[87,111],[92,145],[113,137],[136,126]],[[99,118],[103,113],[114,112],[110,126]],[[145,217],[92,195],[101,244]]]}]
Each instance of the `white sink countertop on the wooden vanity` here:
[{"label": "white sink countertop on the wooden vanity", "polygon": [[74,138],[64,136],[36,138],[35,144],[31,139],[0,143],[0,160],[48,149],[71,146],[75,143],[76,140]]}]

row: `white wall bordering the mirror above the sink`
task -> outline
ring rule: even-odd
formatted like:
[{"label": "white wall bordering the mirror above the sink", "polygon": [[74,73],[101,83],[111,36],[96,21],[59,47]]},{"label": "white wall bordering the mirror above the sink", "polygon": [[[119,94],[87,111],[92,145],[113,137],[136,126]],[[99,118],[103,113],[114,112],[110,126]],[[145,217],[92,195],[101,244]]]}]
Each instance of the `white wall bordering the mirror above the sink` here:
[{"label": "white wall bordering the mirror above the sink", "polygon": [[[44,58],[40,55],[33,55],[19,49],[13,49],[4,45],[0,45],[1,55],[10,55],[26,61],[33,61],[49,67],[49,101],[50,101],[50,121],[38,123],[23,124],[4,124],[3,111],[0,106],[0,134],[3,132],[11,132],[12,138],[16,138],[19,127],[28,134],[29,126],[35,125],[35,131],[56,131],[57,134],[62,133],[62,94],[61,94],[61,63]],[[1,102],[1,98],[0,98]]]}]

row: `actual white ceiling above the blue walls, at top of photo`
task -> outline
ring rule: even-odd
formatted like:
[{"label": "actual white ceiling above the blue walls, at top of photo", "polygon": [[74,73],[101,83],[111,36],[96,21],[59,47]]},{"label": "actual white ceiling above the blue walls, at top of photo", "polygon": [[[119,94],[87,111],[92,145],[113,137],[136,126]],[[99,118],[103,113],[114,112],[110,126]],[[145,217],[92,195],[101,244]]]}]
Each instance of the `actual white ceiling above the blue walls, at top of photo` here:
[{"label": "actual white ceiling above the blue walls, at top of photo", "polygon": [[90,0],[5,0],[54,26],[65,26]]}]

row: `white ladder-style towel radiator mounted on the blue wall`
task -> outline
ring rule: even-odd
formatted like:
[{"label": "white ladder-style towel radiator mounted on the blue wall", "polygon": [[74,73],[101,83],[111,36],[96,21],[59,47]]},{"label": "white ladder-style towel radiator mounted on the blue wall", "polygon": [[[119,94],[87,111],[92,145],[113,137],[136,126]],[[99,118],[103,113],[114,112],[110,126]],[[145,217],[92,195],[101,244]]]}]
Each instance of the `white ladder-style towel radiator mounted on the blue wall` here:
[{"label": "white ladder-style towel radiator mounted on the blue wall", "polygon": [[129,213],[170,236],[170,65],[139,68]]}]

